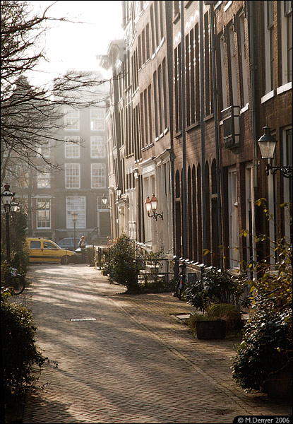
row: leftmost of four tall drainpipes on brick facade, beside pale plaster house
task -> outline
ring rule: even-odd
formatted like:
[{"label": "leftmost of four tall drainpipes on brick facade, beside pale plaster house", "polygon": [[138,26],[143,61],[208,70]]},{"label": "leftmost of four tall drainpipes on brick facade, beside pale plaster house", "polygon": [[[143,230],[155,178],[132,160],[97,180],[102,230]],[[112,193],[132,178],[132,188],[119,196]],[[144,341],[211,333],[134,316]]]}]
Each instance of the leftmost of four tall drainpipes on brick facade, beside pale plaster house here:
[{"label": "leftmost of four tall drainpipes on brick facade, beside pale plaster house", "polygon": [[[201,2],[200,2],[201,3]],[[186,229],[186,112],[185,112],[185,48],[184,48],[184,2],[180,2],[181,20],[181,116],[182,116],[182,237],[183,257],[187,259]]]}]

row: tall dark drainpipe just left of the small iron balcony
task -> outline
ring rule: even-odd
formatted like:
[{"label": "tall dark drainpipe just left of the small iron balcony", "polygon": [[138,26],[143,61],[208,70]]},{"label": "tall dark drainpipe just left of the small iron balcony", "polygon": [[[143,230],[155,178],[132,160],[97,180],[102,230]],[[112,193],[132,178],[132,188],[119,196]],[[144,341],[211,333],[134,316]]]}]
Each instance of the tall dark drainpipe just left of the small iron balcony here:
[{"label": "tall dark drainpipe just left of the small iron balcony", "polygon": [[[206,2],[207,3],[207,2]],[[214,4],[216,1],[210,2],[210,27],[212,31],[211,45],[212,45],[212,71],[213,71],[213,101],[214,101],[214,123],[215,123],[215,155],[216,155],[216,177],[217,177],[217,230],[219,239],[219,254],[220,254],[220,269],[223,271],[223,257],[222,257],[222,199],[221,199],[221,186],[220,186],[220,144],[219,133],[217,128],[217,81],[215,72],[215,28],[214,28]]]}]

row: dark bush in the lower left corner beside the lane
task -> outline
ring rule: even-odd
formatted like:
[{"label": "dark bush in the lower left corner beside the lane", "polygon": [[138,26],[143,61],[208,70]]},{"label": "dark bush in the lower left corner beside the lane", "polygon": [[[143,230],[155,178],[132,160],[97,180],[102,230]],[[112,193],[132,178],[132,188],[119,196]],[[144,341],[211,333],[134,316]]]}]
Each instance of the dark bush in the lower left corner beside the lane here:
[{"label": "dark bush in the lower left corner beside the lane", "polygon": [[11,395],[25,394],[37,381],[34,365],[41,367],[47,360],[35,345],[35,331],[30,310],[11,304],[8,296],[2,294],[1,338],[6,400]]}]

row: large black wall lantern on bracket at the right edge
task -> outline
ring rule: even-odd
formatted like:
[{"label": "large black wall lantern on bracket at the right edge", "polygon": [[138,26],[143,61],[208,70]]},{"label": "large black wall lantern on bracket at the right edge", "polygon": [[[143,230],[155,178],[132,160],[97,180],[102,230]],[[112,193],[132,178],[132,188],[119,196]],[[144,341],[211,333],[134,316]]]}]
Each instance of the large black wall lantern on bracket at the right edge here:
[{"label": "large black wall lantern on bracket at the right edge", "polygon": [[[270,126],[263,126],[263,135],[258,140],[258,146],[261,151],[261,158],[263,160],[273,159],[275,155],[275,146],[277,140],[270,134]],[[269,172],[275,174],[277,171],[280,171],[282,176],[285,178],[292,178],[292,166],[273,166],[271,163],[267,163],[265,166],[267,175]]]}]

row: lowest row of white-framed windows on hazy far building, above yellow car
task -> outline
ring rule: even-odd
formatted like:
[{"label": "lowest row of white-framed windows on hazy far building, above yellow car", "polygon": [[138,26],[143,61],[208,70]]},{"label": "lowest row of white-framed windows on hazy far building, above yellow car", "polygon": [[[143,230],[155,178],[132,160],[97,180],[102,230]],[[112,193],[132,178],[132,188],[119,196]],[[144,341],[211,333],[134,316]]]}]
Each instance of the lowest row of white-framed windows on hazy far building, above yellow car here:
[{"label": "lowest row of white-framed windows on hazy far building, above yellow car", "polygon": [[[102,203],[103,196],[97,196],[97,211],[107,209]],[[77,213],[76,228],[86,228],[85,220],[85,196],[66,197],[66,228],[73,228],[72,213]],[[36,225],[37,229],[51,228],[52,204],[51,199],[35,199]]]}]

